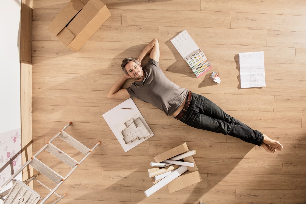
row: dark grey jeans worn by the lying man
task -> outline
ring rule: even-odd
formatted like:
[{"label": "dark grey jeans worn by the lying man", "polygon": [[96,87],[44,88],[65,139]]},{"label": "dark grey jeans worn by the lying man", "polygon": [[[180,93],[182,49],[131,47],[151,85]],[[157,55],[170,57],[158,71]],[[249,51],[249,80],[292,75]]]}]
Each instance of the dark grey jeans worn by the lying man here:
[{"label": "dark grey jeans worn by the lying man", "polygon": [[230,135],[258,146],[263,142],[262,133],[226,114],[216,104],[196,93],[192,93],[191,103],[180,121],[188,126]]}]

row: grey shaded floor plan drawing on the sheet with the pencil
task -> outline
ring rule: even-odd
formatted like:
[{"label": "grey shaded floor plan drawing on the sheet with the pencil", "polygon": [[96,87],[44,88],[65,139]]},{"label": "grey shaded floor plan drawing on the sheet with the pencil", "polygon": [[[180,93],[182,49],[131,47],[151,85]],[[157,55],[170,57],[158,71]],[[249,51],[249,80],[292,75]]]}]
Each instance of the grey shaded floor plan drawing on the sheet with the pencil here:
[{"label": "grey shaded floor plan drawing on the sheet with the pencil", "polygon": [[125,144],[150,136],[149,131],[141,122],[140,118],[131,118],[124,124],[126,128],[121,131],[121,134]]}]

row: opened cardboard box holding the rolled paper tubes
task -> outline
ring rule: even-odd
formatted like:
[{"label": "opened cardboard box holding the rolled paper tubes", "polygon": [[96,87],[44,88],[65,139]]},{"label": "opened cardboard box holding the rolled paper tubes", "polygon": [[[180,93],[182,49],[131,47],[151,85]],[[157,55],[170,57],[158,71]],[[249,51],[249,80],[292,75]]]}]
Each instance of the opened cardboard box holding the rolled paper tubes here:
[{"label": "opened cardboard box holding the rolled paper tubes", "polygon": [[[170,149],[169,151],[166,151],[162,154],[155,156],[154,159],[157,163],[159,163],[159,162],[165,161],[166,159],[172,158],[174,156],[183,154],[187,151],[189,151],[189,149],[187,147],[187,144],[184,143],[173,149]],[[194,167],[187,166],[188,171],[186,171],[181,176],[177,177],[176,179],[171,181],[169,184],[167,184],[169,193],[178,191],[182,188],[186,188],[187,186],[190,186],[202,180],[202,178],[200,177],[200,173],[198,171],[199,169],[196,166],[196,163],[194,162],[193,157],[189,156],[189,157],[184,158],[184,162],[192,162],[194,163]],[[157,167],[148,169],[148,172],[152,172],[156,170],[156,168]],[[158,181],[155,181],[154,178],[152,178],[152,180],[154,181],[154,184],[158,182]]]}]

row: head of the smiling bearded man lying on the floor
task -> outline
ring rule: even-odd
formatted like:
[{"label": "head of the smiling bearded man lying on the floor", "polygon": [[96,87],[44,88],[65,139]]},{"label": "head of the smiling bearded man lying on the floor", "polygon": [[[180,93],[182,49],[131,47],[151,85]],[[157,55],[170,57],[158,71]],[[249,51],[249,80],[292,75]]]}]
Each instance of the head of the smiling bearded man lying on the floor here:
[{"label": "head of the smiling bearded man lying on the floor", "polygon": [[125,74],[129,75],[135,80],[140,80],[144,75],[144,71],[142,70],[139,62],[132,57],[123,59],[121,68]]}]

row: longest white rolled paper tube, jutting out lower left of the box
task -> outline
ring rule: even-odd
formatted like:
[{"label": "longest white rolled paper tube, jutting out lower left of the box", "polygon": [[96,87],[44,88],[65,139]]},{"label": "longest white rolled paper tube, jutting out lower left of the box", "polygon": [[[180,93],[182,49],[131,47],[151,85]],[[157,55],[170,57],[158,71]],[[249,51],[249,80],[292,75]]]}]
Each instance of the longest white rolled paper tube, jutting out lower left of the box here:
[{"label": "longest white rolled paper tube, jutting out lower left of the box", "polygon": [[144,191],[144,195],[149,197],[165,185],[169,184],[171,181],[173,181],[175,178],[179,177],[182,173],[187,171],[186,166],[181,166],[178,169],[175,169],[174,172],[170,173],[168,176],[160,180],[158,183],[154,184],[151,188],[148,190]]}]

